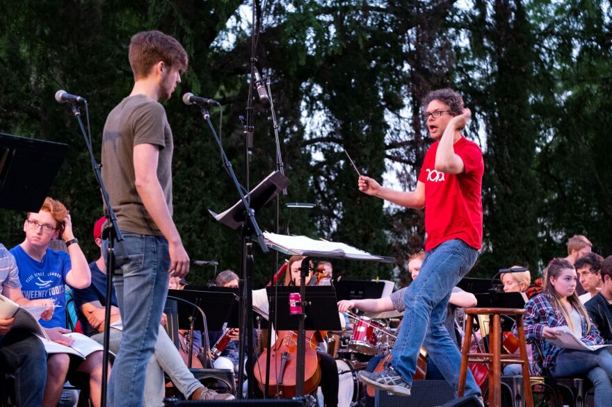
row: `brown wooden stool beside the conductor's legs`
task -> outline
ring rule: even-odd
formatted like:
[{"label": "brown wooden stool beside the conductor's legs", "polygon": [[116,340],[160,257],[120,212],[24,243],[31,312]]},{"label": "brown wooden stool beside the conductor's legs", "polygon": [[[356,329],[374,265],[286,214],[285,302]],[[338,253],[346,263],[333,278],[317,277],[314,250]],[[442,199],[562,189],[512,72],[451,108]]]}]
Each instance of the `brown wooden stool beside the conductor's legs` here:
[{"label": "brown wooden stool beside the conductor's legs", "polygon": [[[525,404],[533,407],[531,396],[531,382],[529,380],[529,358],[525,342],[523,327],[524,309],[514,308],[466,308],[465,340],[461,348],[461,369],[459,371],[458,397],[465,392],[465,378],[467,365],[470,362],[488,363],[489,365],[489,406],[501,407],[501,364],[520,363],[523,367],[523,388]],[[472,329],[474,328],[474,315],[490,315],[489,319],[489,352],[488,354],[471,354],[469,347],[472,344]],[[520,344],[520,356],[501,354],[501,315],[512,316],[517,325]]]}]

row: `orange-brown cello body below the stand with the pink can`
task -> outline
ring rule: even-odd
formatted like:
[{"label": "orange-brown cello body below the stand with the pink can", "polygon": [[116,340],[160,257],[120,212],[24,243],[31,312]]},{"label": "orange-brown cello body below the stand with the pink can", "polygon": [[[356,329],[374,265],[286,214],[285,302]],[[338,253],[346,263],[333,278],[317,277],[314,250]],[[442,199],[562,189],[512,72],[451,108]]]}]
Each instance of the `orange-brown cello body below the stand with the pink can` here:
[{"label": "orange-brown cello body below the stand with the pink can", "polygon": [[[323,342],[326,331],[306,331],[306,355],[304,393],[316,390],[321,381],[321,365],[316,345]],[[279,331],[276,342],[270,348],[270,383],[268,396],[284,399],[296,396],[298,367],[298,333]],[[259,356],[254,367],[255,379],[262,392],[266,389],[266,358],[268,349]]]}]

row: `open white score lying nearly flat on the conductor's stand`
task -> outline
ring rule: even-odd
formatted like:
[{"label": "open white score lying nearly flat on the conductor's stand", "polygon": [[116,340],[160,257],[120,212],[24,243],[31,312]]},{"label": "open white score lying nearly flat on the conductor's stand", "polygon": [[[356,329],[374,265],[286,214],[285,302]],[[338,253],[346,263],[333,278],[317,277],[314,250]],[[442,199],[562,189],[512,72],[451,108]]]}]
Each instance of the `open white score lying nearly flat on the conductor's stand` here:
[{"label": "open white score lying nearly flat on the conductor's stand", "polygon": [[290,256],[348,258],[351,260],[378,261],[380,263],[395,262],[392,257],[375,256],[348,244],[314,240],[306,236],[287,236],[264,232],[264,239],[268,247]]}]

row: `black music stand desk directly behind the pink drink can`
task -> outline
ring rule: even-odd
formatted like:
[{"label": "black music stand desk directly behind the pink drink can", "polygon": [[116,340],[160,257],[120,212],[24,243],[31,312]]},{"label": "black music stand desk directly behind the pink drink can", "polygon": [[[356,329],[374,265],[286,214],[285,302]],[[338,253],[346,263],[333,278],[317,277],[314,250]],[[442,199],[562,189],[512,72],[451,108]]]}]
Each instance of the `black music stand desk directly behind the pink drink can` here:
[{"label": "black music stand desk directly behind the pink drink can", "polygon": [[[304,329],[306,331],[340,331],[340,314],[338,313],[338,301],[336,292],[331,285],[315,285],[306,288],[306,300],[310,305],[306,307],[306,319]],[[277,292],[276,314],[275,310],[270,311],[270,321],[277,326],[277,331],[297,331],[298,315],[289,314],[289,294],[300,292],[300,287],[266,287],[268,298]]]}]

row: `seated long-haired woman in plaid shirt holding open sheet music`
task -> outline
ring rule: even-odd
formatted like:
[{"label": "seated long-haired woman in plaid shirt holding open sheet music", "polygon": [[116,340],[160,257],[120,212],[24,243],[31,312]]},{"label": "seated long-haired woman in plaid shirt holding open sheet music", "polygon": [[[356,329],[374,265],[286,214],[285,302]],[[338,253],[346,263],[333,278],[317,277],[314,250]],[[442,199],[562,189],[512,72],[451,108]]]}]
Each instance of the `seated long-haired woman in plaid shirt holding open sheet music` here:
[{"label": "seated long-haired woman in plaid shirt holding open sheet music", "polygon": [[525,335],[542,354],[534,351],[536,369],[555,377],[587,376],[595,385],[595,406],[609,406],[612,400],[612,354],[608,348],[579,351],[554,346],[547,339],[555,339],[556,326],[568,326],[585,344],[603,344],[597,327],[576,294],[577,275],[574,266],[563,258],[554,258],[545,272],[542,294],[525,305]]}]

